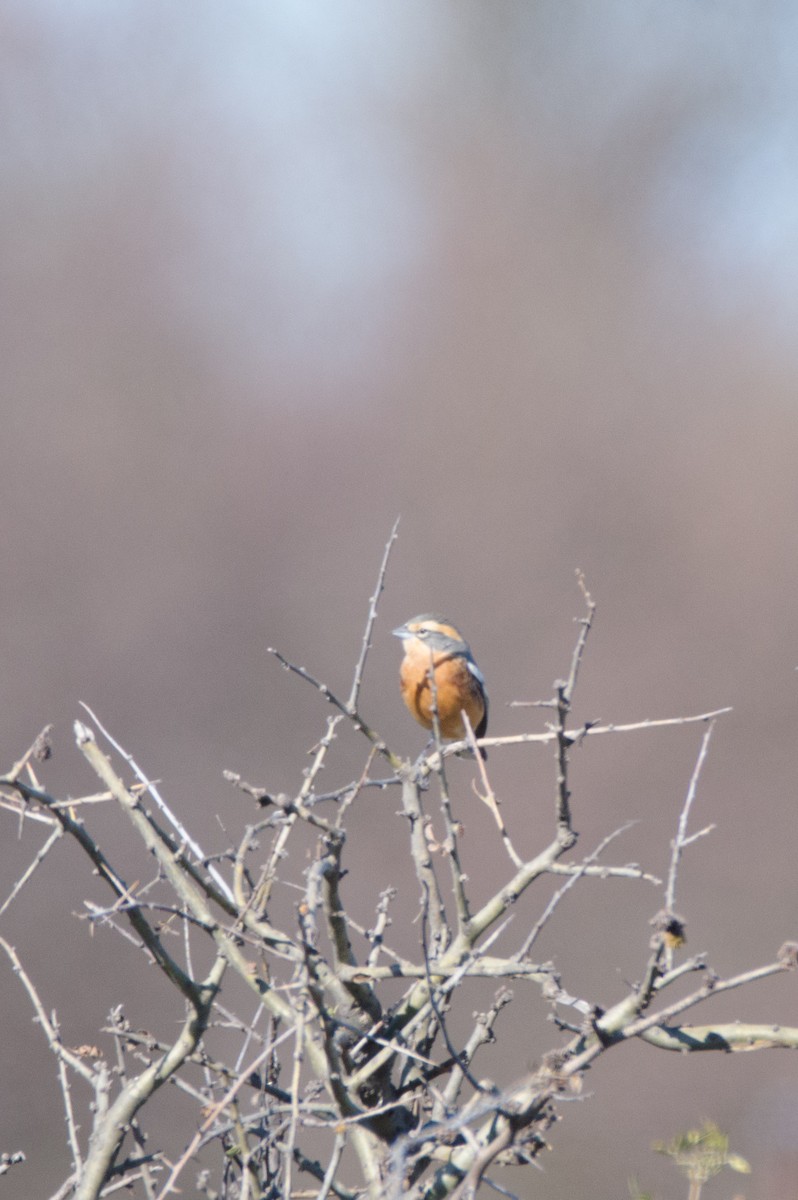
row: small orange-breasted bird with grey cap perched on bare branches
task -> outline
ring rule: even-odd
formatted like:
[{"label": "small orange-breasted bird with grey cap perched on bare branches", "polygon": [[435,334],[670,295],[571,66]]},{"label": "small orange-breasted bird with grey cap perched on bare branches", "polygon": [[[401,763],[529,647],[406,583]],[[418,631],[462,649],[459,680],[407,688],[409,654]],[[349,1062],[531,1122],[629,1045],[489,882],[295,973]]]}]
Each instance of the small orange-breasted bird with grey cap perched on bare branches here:
[{"label": "small orange-breasted bird with grey cap perched on bare branches", "polygon": [[[458,742],[466,737],[462,716],[466,713],[476,737],[484,738],[488,709],[485,676],[457,626],[438,612],[425,612],[406,620],[392,634],[401,638],[404,649],[400,685],[410,715],[425,730],[432,730],[433,708],[437,707],[440,737]],[[434,672],[434,698],[431,671]],[[487,758],[481,746],[479,752]]]}]

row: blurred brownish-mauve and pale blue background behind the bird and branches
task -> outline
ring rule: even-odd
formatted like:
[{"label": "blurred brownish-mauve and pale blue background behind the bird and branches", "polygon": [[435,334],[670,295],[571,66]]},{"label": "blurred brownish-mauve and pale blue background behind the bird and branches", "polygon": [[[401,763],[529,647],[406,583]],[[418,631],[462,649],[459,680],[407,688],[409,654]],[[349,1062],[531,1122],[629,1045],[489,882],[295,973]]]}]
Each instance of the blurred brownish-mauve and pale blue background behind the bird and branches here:
[{"label": "blurred brownish-mauve and pale blue background behind the bird and branches", "polygon": [[[797,46],[779,0],[2,0],[2,769],[52,721],[43,782],[94,790],[85,701],[203,844],[228,845],[252,809],[222,769],[295,791],[329,715],[268,647],[346,696],[401,515],[367,719],[421,749],[390,630],[437,608],[487,676],[491,733],[541,728],[508,704],[568,672],[581,568],[599,608],[577,719],[733,706],[677,904],[721,973],[770,961],[798,936]],[[340,733],[330,787],[364,762]],[[605,859],[664,876],[701,734],[575,751],[580,851],[635,821]],[[551,751],[490,768],[533,853]],[[454,769],[484,898],[506,859],[473,766]],[[353,814],[364,924],[388,882],[415,899],[397,808],[374,793]],[[5,898],[42,834],[2,820]],[[138,960],[76,919],[88,898],[108,899],[59,845],[2,922],[68,1045],[126,996],[154,1019]],[[517,906],[518,941],[544,902]],[[541,958],[612,1003],[661,902],[584,881]],[[64,1117],[0,970],[0,1148],[26,1152],[16,1194],[34,1198],[67,1174]],[[520,1046],[534,1066],[558,1044],[540,1008],[516,995],[497,1081]],[[784,977],[695,1020],[796,1010]],[[752,1166],[716,1194],[798,1195],[792,1056],[636,1045],[589,1084],[545,1171],[505,1177],[521,1196],[617,1200],[635,1174],[684,1194],[650,1144],[704,1117]]]}]

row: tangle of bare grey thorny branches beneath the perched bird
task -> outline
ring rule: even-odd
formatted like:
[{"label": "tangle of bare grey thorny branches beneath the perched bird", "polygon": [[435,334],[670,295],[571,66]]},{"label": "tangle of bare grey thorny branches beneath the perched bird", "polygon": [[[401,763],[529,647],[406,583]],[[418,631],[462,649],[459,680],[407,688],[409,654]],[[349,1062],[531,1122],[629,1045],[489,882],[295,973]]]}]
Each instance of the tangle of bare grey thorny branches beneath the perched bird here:
[{"label": "tangle of bare grey thorny branches beneath the perched bird", "polygon": [[[490,1181],[494,1166],[536,1164],[548,1128],[562,1120],[560,1100],[577,1094],[588,1067],[622,1043],[638,1039],[661,1050],[696,1052],[798,1046],[798,1028],[767,1020],[683,1022],[686,1013],[713,996],[798,965],[793,943],[786,943],[773,961],[725,979],[712,971],[706,955],[676,961],[684,941],[684,918],[673,911],[678,870],[689,847],[710,828],[689,833],[688,822],[714,720],[727,709],[629,725],[574,726],[578,673],[595,614],[580,575],[586,616],[568,674],[554,684],[553,700],[536,704],[553,712],[552,724],[544,731],[480,742],[492,748],[554,748],[551,828],[524,857],[510,841],[473,731],[456,744],[442,744],[436,737],[433,748],[410,763],[388,748],[360,712],[396,533],[395,526],[347,701],[272,652],[336,712],[328,718],[295,794],[275,796],[265,786],[245,784],[238,773],[226,773],[257,806],[238,845],[208,856],[146,773],[88,709],[94,727],[76,722],[76,738],[100,780],[98,796],[58,799],[40,782],[35,763],[47,757],[47,738],[36,739],[0,780],[0,810],[23,828],[46,827],[0,916],[23,902],[64,840],[71,839],[106,889],[103,902],[86,901],[86,919],[120,934],[120,953],[132,947],[156,966],[173,996],[172,1026],[178,1022],[176,1036],[156,1036],[136,1030],[118,1008],[101,1031],[108,1050],[70,1049],[22,956],[0,940],[56,1061],[68,1153],[59,1195],[90,1200],[124,1187],[134,1196],[166,1200],[185,1193],[187,1172],[196,1170],[197,1190],[220,1200],[289,1200],[310,1194],[308,1181],[320,1200],[466,1200]],[[322,793],[317,782],[323,768],[326,774],[334,769],[342,721],[370,743],[366,764],[358,778]],[[660,881],[644,865],[604,860],[625,827],[605,836],[587,857],[566,860],[577,841],[574,814],[580,805],[570,780],[570,752],[577,742],[596,734],[670,725],[689,728],[708,721],[713,725],[703,737],[677,822],[662,907],[652,918],[650,946],[641,954],[640,980],[608,1008],[596,997],[574,996],[563,983],[562,967],[532,960],[538,934],[556,920],[563,898],[578,895],[587,877],[614,878],[635,889],[660,887]],[[101,750],[98,734],[113,758]],[[461,862],[456,794],[450,794],[444,770],[451,755],[462,751],[470,751],[479,772],[478,794],[491,809],[497,840],[511,862],[487,895],[476,892]],[[390,773],[372,778],[373,762],[379,761],[389,764]],[[402,797],[408,856],[406,863],[391,862],[385,869],[368,928],[368,918],[349,911],[356,905],[352,896],[347,902],[347,874],[362,872],[362,894],[364,881],[367,887],[372,880],[362,869],[372,864],[352,860],[347,828],[391,787]],[[113,805],[127,829],[125,871],[92,833],[90,803],[97,800]],[[433,833],[436,820],[444,823],[442,841]],[[146,866],[132,865],[139,860]],[[559,882],[553,892],[551,877]],[[395,923],[402,931],[396,943]],[[413,944],[408,931],[414,926],[413,953],[406,947]],[[205,964],[204,974],[194,962]],[[694,978],[697,985],[685,991]],[[455,1034],[463,1028],[463,1013],[473,1013],[470,988],[478,979],[493,980],[493,1000],[485,1012],[472,1015],[466,1033]],[[494,1074],[491,1046],[511,1028],[510,984],[524,996],[524,1006],[551,1010],[553,1044],[544,1049],[524,1043],[518,1057],[539,1066],[521,1078],[488,1082]],[[163,1085],[172,1088],[175,1104],[196,1112],[196,1134],[182,1146],[169,1144],[169,1130],[148,1121],[149,1102]],[[154,1148],[145,1152],[150,1145]],[[6,1156],[0,1174],[12,1162],[24,1171],[18,1156]]]}]

